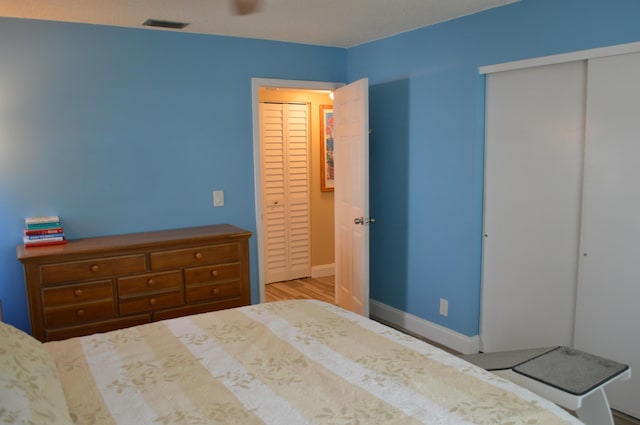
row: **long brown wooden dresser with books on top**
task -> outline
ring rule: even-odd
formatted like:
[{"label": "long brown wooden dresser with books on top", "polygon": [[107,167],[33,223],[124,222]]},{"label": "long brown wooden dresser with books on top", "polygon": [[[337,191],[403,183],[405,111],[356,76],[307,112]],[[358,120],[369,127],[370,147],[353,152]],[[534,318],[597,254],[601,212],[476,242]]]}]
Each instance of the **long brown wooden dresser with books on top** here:
[{"label": "long brown wooden dresser with books on top", "polygon": [[248,305],[250,236],[220,224],[19,245],[32,334],[52,341]]}]

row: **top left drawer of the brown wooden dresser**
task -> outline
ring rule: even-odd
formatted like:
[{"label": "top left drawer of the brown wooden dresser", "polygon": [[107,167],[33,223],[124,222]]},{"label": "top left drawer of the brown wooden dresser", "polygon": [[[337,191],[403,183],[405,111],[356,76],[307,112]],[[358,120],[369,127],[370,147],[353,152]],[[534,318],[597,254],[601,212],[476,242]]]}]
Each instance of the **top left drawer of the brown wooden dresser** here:
[{"label": "top left drawer of the brown wooden dresser", "polygon": [[144,254],[96,258],[93,260],[43,265],[40,267],[40,281],[46,285],[143,272],[145,269],[146,259]]}]

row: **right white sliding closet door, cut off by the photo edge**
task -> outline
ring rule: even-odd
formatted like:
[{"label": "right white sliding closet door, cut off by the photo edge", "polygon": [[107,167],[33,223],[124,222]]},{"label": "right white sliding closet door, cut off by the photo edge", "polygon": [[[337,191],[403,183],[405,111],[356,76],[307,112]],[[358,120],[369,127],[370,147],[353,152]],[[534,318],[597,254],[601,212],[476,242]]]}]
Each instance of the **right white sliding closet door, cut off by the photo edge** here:
[{"label": "right white sliding closet door, cut off by the photo edge", "polygon": [[632,367],[607,387],[640,417],[640,54],[589,62],[575,346]]}]

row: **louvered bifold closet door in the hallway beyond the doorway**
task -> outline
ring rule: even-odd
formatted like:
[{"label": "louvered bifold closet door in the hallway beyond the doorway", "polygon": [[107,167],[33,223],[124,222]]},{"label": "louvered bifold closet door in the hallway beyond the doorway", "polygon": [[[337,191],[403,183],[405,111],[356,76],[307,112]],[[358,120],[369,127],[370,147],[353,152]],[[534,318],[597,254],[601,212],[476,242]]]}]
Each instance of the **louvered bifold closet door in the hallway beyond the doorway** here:
[{"label": "louvered bifold closet door in the hallway beyond the doorway", "polygon": [[306,104],[261,103],[265,282],[311,274]]}]

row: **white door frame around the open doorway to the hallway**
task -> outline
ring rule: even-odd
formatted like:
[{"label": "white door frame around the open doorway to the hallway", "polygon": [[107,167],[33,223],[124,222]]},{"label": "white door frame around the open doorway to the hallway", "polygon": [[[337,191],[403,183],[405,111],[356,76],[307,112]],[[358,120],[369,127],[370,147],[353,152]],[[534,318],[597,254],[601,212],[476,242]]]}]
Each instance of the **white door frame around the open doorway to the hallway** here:
[{"label": "white door frame around the open doorway to the hallway", "polygon": [[262,169],[260,160],[260,107],[259,90],[261,87],[277,87],[301,90],[335,90],[344,83],[325,81],[280,80],[272,78],[251,79],[251,109],[253,122],[253,181],[256,202],[256,243],[258,247],[258,288],[259,302],[265,301],[264,285],[264,229],[262,228]]}]

